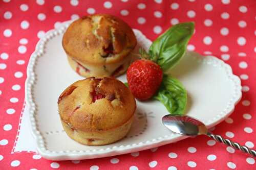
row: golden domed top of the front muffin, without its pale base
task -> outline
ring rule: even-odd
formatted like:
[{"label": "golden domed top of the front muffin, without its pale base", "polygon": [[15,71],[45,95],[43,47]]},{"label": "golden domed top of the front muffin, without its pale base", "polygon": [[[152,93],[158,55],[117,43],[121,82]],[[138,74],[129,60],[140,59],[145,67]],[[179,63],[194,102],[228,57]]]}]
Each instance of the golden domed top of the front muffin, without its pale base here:
[{"label": "golden domed top of the front muffin, without its pale base", "polygon": [[114,78],[77,81],[58,99],[59,115],[71,128],[102,131],[119,127],[134,115],[131,91]]}]

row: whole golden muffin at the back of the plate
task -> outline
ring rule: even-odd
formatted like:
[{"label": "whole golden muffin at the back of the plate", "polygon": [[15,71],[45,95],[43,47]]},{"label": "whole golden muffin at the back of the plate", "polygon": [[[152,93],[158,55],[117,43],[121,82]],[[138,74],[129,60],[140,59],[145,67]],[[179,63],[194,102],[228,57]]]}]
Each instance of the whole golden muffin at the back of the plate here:
[{"label": "whole golden muffin at the back of the plate", "polygon": [[123,20],[96,14],[75,20],[62,38],[70,66],[83,77],[123,74],[136,46],[133,30]]}]

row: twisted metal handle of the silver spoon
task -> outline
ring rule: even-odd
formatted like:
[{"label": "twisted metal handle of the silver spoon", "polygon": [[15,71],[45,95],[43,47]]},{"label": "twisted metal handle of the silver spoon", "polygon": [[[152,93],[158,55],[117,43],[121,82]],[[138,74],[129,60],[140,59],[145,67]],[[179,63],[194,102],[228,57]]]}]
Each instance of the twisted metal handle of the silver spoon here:
[{"label": "twisted metal handle of the silver spoon", "polygon": [[251,149],[249,149],[248,147],[242,146],[242,145],[240,145],[240,144],[237,143],[237,142],[233,142],[233,141],[231,141],[231,140],[229,140],[229,139],[223,138],[223,137],[220,136],[220,135],[214,135],[214,134],[212,134],[212,133],[208,133],[207,135],[208,135],[209,137],[211,137],[212,139],[214,139],[214,140],[216,140],[216,141],[218,141],[218,142],[224,143],[224,144],[226,144],[226,145],[228,145],[228,146],[230,146],[230,147],[232,147],[232,148],[234,148],[234,149],[240,150],[240,151],[242,151],[242,152],[244,152],[244,153],[248,153],[248,154],[250,154],[250,155],[253,156],[253,157],[256,156],[256,151],[255,151],[255,150],[251,150]]}]

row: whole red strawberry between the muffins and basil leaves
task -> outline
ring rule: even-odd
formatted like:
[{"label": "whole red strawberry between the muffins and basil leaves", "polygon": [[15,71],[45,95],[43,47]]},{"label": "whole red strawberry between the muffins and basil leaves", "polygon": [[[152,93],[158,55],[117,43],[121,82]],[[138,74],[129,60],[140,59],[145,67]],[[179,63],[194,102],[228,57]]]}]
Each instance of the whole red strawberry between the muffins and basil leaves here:
[{"label": "whole red strawberry between the muffins and basil leaves", "polygon": [[137,60],[127,69],[129,88],[135,98],[141,101],[150,99],[156,93],[162,78],[162,69],[150,60]]}]

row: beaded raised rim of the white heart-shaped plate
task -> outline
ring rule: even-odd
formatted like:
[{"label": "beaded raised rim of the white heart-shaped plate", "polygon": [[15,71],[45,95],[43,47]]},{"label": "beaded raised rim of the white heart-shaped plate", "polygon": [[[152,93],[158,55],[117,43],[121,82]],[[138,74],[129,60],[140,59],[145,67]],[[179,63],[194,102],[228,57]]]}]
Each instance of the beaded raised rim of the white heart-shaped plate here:
[{"label": "beaded raised rim of the white heart-shaped plate", "polygon": [[[131,152],[137,152],[137,151],[158,147],[160,145],[164,145],[170,142],[175,142],[175,141],[179,141],[187,138],[187,136],[170,134],[170,135],[164,135],[162,137],[160,136],[158,138],[150,139],[144,142],[128,144],[125,146],[120,145],[119,147],[114,146],[112,148],[106,148],[106,149],[97,149],[97,150],[94,149],[94,150],[86,150],[86,151],[58,151],[58,152],[49,151],[46,149],[44,139],[41,135],[41,132],[37,129],[36,122],[35,122],[36,104],[33,100],[33,95],[32,95],[33,86],[34,86],[34,83],[36,82],[36,74],[34,72],[35,63],[37,62],[37,59],[39,57],[44,55],[45,45],[47,44],[47,42],[51,38],[64,33],[73,20],[62,22],[60,27],[49,30],[43,37],[41,37],[37,42],[35,46],[35,51],[31,54],[28,62],[27,79],[25,81],[25,101],[28,105],[30,129],[31,129],[32,136],[36,141],[36,150],[38,151],[38,153],[42,157],[50,160],[92,159],[92,158],[108,157],[108,156],[131,153]],[[146,36],[140,30],[137,30],[137,29],[133,29],[133,30],[141,34],[141,36],[147,41],[147,43],[152,43],[152,41],[150,39],[147,39]],[[189,53],[192,54],[194,52],[189,52]],[[209,119],[205,123],[208,128],[211,128],[221,123],[227,116],[229,116],[233,112],[234,107],[242,98],[242,92],[241,92],[242,86],[241,86],[240,78],[236,75],[233,75],[231,66],[226,64],[224,61],[214,56],[206,56],[200,60],[203,60],[204,62],[212,62],[213,64],[219,64],[222,67],[224,67],[228,78],[233,81],[235,86],[234,91],[236,95],[233,95],[233,98],[231,101],[232,103],[230,103],[223,112],[216,115],[214,118]]]}]

